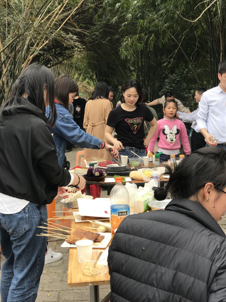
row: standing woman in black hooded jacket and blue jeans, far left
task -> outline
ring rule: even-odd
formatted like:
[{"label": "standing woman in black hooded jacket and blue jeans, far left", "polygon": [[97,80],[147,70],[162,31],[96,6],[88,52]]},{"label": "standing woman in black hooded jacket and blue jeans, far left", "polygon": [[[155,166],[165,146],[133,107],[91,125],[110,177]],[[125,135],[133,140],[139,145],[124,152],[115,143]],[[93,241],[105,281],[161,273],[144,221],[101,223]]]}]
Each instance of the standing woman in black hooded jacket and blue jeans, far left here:
[{"label": "standing woman in black hooded jacket and blue jeans, far left", "polygon": [[[0,109],[1,301],[33,302],[42,274],[46,204],[66,185],[83,189],[85,180],[58,165],[49,125],[56,120],[55,79],[40,64],[18,77]],[[46,118],[45,109],[50,107]]]}]

